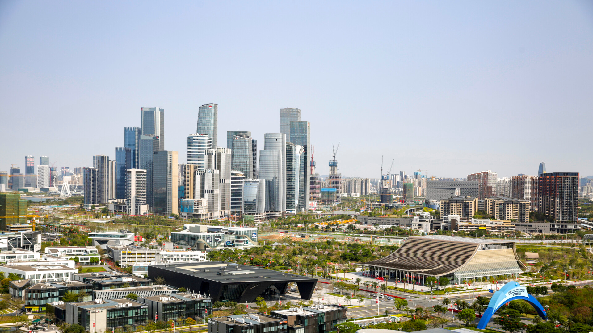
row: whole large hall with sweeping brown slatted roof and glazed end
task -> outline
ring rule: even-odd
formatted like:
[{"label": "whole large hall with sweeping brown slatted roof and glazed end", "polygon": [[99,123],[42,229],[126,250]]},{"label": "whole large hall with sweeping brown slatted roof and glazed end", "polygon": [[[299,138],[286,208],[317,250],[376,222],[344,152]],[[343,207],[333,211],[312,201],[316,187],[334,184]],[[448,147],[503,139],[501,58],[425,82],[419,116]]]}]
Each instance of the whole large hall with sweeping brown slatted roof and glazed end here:
[{"label": "whole large hall with sweeping brown slatted roof and glazed end", "polygon": [[482,277],[518,276],[528,268],[515,251],[515,242],[456,236],[409,237],[387,257],[361,263],[370,277],[407,278],[425,284],[428,276],[454,283]]}]

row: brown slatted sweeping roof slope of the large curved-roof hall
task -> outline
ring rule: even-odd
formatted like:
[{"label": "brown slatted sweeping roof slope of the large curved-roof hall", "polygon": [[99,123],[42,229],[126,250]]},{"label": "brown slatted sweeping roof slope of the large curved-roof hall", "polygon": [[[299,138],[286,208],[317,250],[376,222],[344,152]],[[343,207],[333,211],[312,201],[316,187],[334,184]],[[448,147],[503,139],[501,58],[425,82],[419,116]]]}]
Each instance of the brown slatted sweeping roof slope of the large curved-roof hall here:
[{"label": "brown slatted sweeping roof slope of the large curved-roof hall", "polygon": [[362,264],[442,276],[458,270],[470,261],[480,243],[462,237],[410,237],[396,252]]}]

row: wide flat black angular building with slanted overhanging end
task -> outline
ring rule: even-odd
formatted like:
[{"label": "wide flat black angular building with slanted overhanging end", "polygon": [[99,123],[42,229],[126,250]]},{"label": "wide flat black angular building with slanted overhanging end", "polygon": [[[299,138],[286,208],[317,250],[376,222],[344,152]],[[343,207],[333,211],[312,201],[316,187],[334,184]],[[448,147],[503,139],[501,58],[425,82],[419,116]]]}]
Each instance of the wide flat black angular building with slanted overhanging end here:
[{"label": "wide flat black angular building with slanted overhanging end", "polygon": [[148,266],[148,277],[154,280],[158,276],[171,286],[206,294],[213,302],[254,302],[260,295],[285,293],[289,283],[297,283],[302,299],[311,299],[317,284],[317,278],[226,261]]}]

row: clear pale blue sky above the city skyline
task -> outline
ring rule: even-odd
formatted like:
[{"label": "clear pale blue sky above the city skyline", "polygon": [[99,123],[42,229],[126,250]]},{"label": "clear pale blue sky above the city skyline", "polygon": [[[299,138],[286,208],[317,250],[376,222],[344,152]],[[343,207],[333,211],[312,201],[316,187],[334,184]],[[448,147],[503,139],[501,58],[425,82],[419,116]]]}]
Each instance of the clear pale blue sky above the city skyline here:
[{"label": "clear pale blue sky above the city skyline", "polygon": [[[165,108],[186,159],[197,110],[227,130],[311,121],[317,171],[593,175],[590,1],[0,1],[0,170],[114,158]],[[263,148],[263,147],[262,147]]]}]

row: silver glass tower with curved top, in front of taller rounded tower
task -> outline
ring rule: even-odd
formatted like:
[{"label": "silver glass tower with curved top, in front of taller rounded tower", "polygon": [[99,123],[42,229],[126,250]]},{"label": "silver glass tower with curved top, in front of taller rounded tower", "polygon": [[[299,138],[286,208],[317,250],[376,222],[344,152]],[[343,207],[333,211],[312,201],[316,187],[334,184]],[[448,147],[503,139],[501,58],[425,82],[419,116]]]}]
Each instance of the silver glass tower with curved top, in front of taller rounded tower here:
[{"label": "silver glass tower with curved top, in front of taller rounded tower", "polygon": [[282,189],[282,160],[282,151],[279,149],[260,151],[259,179],[265,182],[266,212],[282,212],[286,207]]}]

